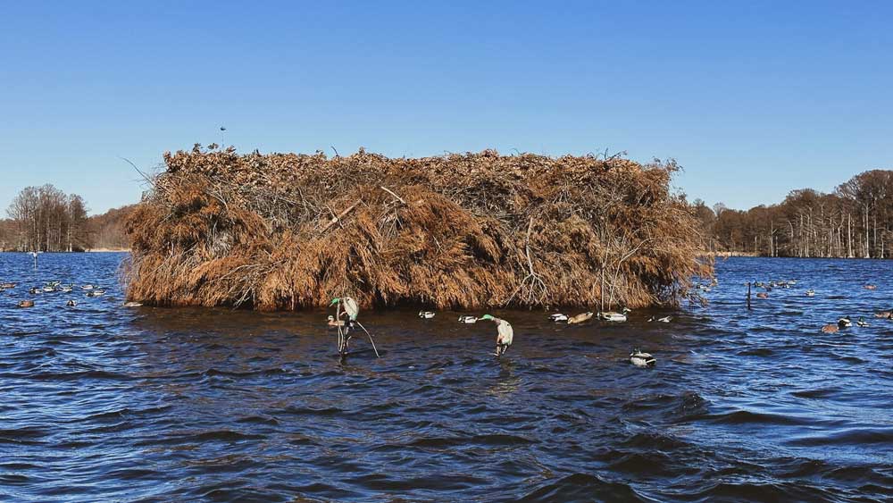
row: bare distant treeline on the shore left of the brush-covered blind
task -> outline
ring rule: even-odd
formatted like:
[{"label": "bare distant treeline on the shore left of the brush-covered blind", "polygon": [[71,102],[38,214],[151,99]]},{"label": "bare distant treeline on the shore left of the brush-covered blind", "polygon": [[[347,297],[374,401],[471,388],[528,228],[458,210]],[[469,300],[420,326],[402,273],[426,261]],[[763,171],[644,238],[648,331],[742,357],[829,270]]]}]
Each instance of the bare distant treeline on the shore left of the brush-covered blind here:
[{"label": "bare distant treeline on the shore left of the brush-covered blind", "polygon": [[77,194],[66,195],[53,185],[27,187],[0,220],[2,251],[85,251],[129,248],[122,228],[132,206],[87,216],[87,205]]}]

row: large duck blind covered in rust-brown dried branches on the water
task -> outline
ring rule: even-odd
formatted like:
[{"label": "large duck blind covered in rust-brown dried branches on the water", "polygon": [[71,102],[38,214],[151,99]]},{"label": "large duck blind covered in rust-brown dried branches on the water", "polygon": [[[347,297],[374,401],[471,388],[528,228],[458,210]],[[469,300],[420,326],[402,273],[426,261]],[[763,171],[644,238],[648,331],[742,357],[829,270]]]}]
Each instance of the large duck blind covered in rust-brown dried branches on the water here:
[{"label": "large duck blind covered in rust-brown dried branches on the water", "polygon": [[164,162],[126,224],[128,299],[147,305],[668,306],[712,272],[673,162],[214,145]]}]

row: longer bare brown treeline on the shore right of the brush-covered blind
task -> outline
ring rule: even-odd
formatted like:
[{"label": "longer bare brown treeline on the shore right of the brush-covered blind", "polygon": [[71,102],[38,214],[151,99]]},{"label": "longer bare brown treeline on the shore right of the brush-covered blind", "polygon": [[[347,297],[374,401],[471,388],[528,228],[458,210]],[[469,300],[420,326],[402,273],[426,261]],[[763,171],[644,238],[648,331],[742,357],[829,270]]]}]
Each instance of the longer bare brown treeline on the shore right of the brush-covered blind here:
[{"label": "longer bare brown treeline on the shore right of the brush-covered blind", "polygon": [[747,211],[707,207],[696,199],[695,213],[711,251],[761,256],[893,256],[893,171],[855,175],[830,194],[814,189],[789,193],[778,205]]}]

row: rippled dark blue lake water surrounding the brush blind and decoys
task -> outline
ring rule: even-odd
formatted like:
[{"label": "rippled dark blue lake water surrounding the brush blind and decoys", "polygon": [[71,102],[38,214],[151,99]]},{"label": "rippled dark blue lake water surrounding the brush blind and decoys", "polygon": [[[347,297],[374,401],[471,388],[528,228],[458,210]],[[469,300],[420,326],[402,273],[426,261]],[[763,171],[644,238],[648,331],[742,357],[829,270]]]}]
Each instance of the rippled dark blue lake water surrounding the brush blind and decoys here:
[{"label": "rippled dark blue lake water surrounding the brush blind and decoys", "polygon": [[[890,262],[721,261],[710,305],[668,324],[506,312],[502,361],[491,323],[363,312],[383,357],[342,365],[322,312],[123,307],[124,257],[0,254],[0,499],[893,497]],[[741,283],[780,279],[748,313]],[[29,295],[51,280],[109,292]],[[819,331],[840,315],[872,325]]]}]

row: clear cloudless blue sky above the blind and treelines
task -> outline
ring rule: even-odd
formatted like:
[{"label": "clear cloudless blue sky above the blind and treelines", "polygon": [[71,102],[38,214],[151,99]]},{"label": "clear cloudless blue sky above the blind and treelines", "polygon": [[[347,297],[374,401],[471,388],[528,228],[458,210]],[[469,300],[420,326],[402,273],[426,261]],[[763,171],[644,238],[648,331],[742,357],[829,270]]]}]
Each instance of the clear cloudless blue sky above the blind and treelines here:
[{"label": "clear cloudless blue sky above the blind and treelines", "polygon": [[675,157],[745,208],[893,168],[893,2],[0,0],[0,213],[165,150]]}]

